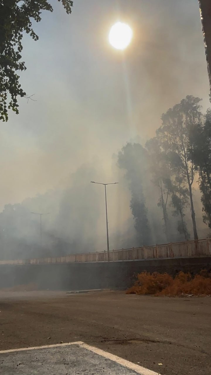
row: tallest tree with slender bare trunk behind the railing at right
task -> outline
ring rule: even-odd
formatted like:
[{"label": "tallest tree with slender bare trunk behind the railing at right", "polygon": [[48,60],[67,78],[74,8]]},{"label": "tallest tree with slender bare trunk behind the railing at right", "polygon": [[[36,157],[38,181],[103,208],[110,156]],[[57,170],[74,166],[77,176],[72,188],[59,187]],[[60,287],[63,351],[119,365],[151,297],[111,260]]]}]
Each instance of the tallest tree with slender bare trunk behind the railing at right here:
[{"label": "tallest tree with slender bare trunk behind the railing at right", "polygon": [[198,239],[192,191],[195,169],[190,133],[192,129],[201,126],[200,100],[194,96],[186,96],[179,104],[162,115],[162,125],[156,132],[158,141],[169,158],[171,168],[178,170],[179,176],[187,182],[195,240]]}]

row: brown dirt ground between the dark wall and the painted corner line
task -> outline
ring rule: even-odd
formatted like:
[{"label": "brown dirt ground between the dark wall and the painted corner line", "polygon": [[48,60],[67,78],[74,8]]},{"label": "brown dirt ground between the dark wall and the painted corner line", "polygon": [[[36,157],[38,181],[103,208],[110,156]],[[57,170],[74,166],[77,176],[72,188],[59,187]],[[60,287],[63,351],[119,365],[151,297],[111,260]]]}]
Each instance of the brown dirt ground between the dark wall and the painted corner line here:
[{"label": "brown dirt ground between the dark wall and the painted corner line", "polygon": [[84,341],[160,374],[208,375],[211,298],[0,292],[0,350],[61,341]]}]

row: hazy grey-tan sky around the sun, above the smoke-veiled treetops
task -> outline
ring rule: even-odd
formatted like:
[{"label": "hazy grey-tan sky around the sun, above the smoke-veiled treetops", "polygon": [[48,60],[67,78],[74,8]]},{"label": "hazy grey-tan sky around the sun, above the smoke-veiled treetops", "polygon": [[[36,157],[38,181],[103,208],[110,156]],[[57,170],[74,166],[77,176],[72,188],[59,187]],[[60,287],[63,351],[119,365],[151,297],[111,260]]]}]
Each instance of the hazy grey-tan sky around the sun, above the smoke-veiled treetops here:
[{"label": "hazy grey-tan sky around the sun, above the smoke-veiled treetops", "polygon": [[[125,142],[153,136],[186,95],[209,105],[197,0],[75,0],[69,16],[51,2],[39,41],[23,43],[21,84],[36,102],[21,99],[1,123],[0,207],[62,187],[84,163],[116,180],[112,154]],[[124,53],[108,43],[119,20],[134,32]]]}]

